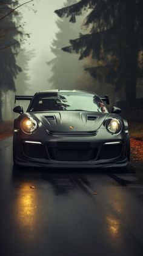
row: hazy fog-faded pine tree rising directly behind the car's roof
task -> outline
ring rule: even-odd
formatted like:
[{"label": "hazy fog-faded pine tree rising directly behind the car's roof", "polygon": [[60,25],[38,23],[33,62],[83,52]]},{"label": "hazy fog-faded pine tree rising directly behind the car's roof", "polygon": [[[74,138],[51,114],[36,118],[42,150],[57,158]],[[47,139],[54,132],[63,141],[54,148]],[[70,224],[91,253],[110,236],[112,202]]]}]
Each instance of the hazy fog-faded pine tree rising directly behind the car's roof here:
[{"label": "hazy fog-faded pine tree rising directly behind the car's roof", "polygon": [[[75,1],[68,0],[65,5],[73,2]],[[80,23],[78,21],[75,28],[73,24],[69,24],[66,18],[56,22],[59,30],[51,48],[55,58],[47,62],[48,65],[52,66],[53,75],[48,80],[52,83],[52,88],[75,89],[75,81],[82,71],[82,63],[78,63],[76,55],[67,55],[61,48],[68,44],[68,37],[76,38],[78,36]]]}]

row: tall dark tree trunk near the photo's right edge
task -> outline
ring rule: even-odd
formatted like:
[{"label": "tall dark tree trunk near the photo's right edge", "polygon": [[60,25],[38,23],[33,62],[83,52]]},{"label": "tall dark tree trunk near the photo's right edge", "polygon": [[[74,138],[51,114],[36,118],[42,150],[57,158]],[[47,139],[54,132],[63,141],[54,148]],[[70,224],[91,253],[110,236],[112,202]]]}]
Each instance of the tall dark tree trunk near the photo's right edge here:
[{"label": "tall dark tree trunk near the photo's right edge", "polygon": [[135,0],[130,0],[126,5],[126,28],[125,28],[125,95],[127,107],[136,103],[136,78],[138,69],[138,52],[135,33]]}]

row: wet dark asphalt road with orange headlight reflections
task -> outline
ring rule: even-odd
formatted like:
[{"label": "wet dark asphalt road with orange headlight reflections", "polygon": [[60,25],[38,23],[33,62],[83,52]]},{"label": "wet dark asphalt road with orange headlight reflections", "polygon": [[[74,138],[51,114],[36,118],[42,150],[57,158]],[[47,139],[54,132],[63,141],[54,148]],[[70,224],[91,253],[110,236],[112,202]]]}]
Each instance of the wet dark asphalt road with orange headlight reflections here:
[{"label": "wet dark asphalt road with orange headlight reflections", "polygon": [[0,255],[143,255],[143,184],[130,168],[13,168],[0,142]]}]

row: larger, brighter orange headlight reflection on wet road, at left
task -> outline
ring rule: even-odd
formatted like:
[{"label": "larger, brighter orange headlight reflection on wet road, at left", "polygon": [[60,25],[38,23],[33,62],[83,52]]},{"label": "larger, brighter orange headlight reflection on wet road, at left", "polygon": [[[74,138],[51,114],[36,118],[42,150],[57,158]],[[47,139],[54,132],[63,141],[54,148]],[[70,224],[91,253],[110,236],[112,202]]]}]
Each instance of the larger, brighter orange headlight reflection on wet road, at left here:
[{"label": "larger, brighter orange headlight reflection on wet road, at left", "polygon": [[28,235],[33,233],[36,224],[36,190],[30,189],[30,184],[22,184],[16,201],[16,217],[20,228]]}]

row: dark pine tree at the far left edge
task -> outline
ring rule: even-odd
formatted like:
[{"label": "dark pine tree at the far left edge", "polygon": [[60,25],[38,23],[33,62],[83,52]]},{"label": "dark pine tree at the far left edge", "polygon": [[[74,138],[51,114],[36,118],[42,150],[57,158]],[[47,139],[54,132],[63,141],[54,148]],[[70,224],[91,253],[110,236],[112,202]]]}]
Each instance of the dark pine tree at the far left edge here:
[{"label": "dark pine tree at the far left edge", "polygon": [[[21,67],[16,64],[19,41],[16,36],[20,35],[12,12],[18,1],[0,2],[0,122],[2,122],[2,92],[15,91],[15,78],[21,72]],[[14,16],[13,16],[14,15]]]}]

